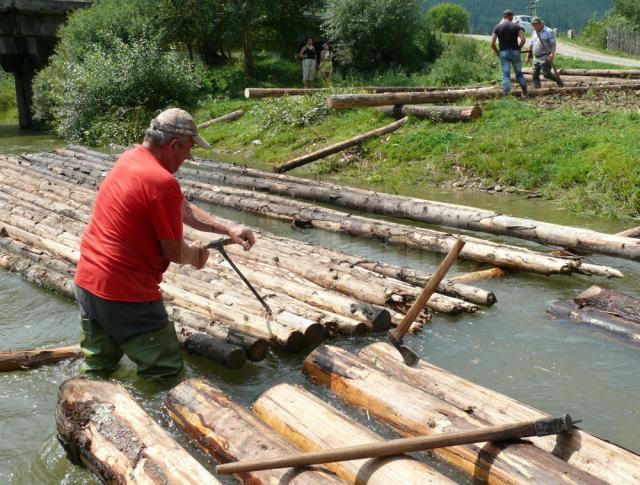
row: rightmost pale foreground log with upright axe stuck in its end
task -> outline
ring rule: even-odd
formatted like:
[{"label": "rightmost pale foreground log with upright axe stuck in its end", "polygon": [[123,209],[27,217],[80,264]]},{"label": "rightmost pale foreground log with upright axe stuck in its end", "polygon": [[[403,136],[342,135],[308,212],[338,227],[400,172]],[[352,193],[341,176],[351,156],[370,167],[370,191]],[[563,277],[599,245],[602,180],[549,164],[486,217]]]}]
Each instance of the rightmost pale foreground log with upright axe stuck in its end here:
[{"label": "rightmost pale foreground log with upright axe stuck in its end", "polygon": [[[389,344],[376,343],[358,354],[394,380],[437,396],[475,416],[487,425],[508,424],[514,420],[542,419],[548,415],[504,394],[474,384],[421,360],[407,367]],[[640,457],[615,444],[574,429],[556,437],[533,437],[531,443],[568,464],[607,483],[636,483],[640,478]]]}]

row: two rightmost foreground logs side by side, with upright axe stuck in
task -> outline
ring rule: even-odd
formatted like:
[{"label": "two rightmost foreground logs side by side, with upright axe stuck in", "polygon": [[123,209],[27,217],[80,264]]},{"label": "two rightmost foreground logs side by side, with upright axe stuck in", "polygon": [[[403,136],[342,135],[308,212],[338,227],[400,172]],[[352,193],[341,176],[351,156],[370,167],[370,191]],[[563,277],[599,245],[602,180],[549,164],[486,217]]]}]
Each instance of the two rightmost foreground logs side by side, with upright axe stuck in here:
[{"label": "two rightmost foreground logs side by side, with upright axe stuck in", "polygon": [[[426,362],[407,367],[389,344],[358,356],[322,346],[305,360],[312,382],[404,436],[463,431],[544,417],[540,411]],[[637,483],[640,457],[579,429],[515,443],[477,443],[433,450],[489,483]]]}]

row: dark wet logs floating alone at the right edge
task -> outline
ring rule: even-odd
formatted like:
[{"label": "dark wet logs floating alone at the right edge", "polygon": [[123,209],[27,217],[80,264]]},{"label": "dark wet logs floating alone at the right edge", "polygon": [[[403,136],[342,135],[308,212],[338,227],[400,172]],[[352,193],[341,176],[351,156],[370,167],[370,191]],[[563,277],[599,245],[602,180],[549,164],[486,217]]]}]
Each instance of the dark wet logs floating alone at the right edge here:
[{"label": "dark wet logs floating alone at the right edge", "polygon": [[553,302],[547,311],[554,318],[591,325],[640,344],[640,300],[637,298],[592,286],[573,300]]}]

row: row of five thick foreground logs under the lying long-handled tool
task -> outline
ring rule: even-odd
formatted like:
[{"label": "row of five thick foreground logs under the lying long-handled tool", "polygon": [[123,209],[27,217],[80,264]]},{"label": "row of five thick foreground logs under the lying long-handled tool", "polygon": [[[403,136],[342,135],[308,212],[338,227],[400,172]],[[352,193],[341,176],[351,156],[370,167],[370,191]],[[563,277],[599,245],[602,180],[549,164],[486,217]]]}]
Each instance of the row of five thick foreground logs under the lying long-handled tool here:
[{"label": "row of five thick foreground logs under the lying long-handled tool", "polygon": [[[313,383],[326,386],[349,405],[365,410],[367,418],[375,418],[404,436],[470,431],[545,417],[534,408],[426,362],[407,367],[389,344],[370,345],[358,355],[336,347],[319,347],[305,360],[304,372]],[[265,391],[251,412],[205,380],[190,379],[168,393],[165,408],[175,424],[217,463],[382,441],[333,406],[290,384]],[[159,453],[169,450],[184,456],[183,450],[166,440],[151,446],[150,440],[161,433],[157,425],[138,417],[140,412],[124,389],[111,383],[74,379],[61,386],[57,428],[72,457],[90,464],[102,478],[107,473],[131,476],[138,470],[177,473],[172,469],[172,457],[157,466],[140,466],[139,461],[144,460],[155,465]],[[134,418],[138,418],[135,425]],[[366,419],[364,422],[368,423]],[[120,439],[110,436],[109,429],[118,429]],[[129,436],[135,438],[136,450],[141,451],[139,461],[130,458],[134,455],[131,445],[123,439]],[[108,446],[98,451],[96,443]],[[480,483],[617,484],[640,480],[638,455],[577,428],[557,436],[457,445],[429,453]],[[453,483],[423,460],[424,455],[421,460],[396,455],[313,468],[243,472],[237,478],[257,484]],[[172,483],[194,483],[189,481],[192,470],[194,480],[202,475],[197,465],[185,460],[182,477]]]}]

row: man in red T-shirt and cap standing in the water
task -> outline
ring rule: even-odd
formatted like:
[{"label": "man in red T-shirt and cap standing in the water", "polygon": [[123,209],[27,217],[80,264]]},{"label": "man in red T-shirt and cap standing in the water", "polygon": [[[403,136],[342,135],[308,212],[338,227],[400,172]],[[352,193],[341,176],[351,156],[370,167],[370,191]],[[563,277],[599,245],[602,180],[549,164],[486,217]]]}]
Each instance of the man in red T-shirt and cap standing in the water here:
[{"label": "man in red T-shirt and cap standing in the water", "polygon": [[183,237],[183,223],[228,235],[249,250],[251,230],[187,202],[174,174],[197,144],[189,113],[171,108],[151,121],[142,145],[124,152],[100,186],[80,243],[75,294],[80,307],[81,370],[106,377],[123,355],[138,375],[161,381],[183,369],[159,284],[170,262],[200,269],[209,252]]}]

